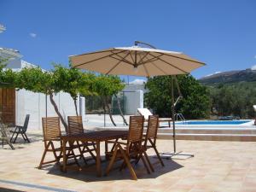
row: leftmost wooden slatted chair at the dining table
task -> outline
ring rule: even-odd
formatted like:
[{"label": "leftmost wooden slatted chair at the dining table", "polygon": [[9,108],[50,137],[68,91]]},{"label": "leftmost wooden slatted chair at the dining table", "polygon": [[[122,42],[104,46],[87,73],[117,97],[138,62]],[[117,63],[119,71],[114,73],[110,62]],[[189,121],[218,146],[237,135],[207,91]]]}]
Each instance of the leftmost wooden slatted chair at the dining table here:
[{"label": "leftmost wooden slatted chair at the dining table", "polygon": [[[41,169],[43,165],[49,163],[60,163],[63,156],[62,143],[61,143],[61,126],[59,117],[42,118],[43,132],[44,132],[44,154],[38,166]],[[60,147],[55,147],[55,143],[59,143]],[[52,152],[55,156],[55,160],[49,160],[44,162],[44,158],[47,152]],[[59,153],[59,154],[57,154]],[[73,152],[73,148],[68,148],[67,158],[73,158],[79,165],[78,160]]]}]

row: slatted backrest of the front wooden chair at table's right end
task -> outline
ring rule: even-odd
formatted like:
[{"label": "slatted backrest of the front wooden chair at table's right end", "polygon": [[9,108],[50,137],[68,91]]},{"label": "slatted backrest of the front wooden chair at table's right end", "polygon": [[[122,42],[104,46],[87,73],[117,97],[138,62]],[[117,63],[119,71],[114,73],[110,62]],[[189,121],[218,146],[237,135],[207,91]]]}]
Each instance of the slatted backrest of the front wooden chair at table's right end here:
[{"label": "slatted backrest of the front wooden chair at table's right end", "polygon": [[129,134],[127,138],[127,148],[131,148],[134,143],[137,143],[137,147],[141,147],[143,143],[143,116],[131,116],[129,124]]}]

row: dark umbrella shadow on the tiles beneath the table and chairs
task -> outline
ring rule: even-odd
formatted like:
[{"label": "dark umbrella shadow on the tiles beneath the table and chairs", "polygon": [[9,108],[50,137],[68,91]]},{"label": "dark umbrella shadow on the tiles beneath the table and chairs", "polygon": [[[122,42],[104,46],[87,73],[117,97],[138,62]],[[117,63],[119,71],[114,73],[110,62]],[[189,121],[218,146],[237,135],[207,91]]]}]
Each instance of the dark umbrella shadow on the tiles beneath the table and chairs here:
[{"label": "dark umbrella shadow on the tiles beneath the table and chairs", "polygon": [[[166,174],[167,172],[173,172],[183,166],[179,165],[174,160],[163,160],[165,166],[161,166],[157,159],[154,156],[149,156],[150,162],[154,166],[154,172],[148,174],[143,163],[140,161],[137,165],[134,163],[132,164],[138,179],[148,179],[148,178],[155,178],[160,177],[161,175]],[[48,174],[57,175],[61,177],[69,177],[73,179],[78,179],[84,182],[98,182],[98,181],[114,181],[114,180],[127,180],[131,179],[130,172],[128,168],[125,170],[119,171],[119,166],[121,165],[122,161],[115,162],[113,166],[113,170],[109,173],[108,176],[104,176],[106,168],[108,166],[109,161],[102,162],[102,177],[96,177],[96,165],[93,160],[90,161],[90,166],[86,166],[83,171],[73,170],[73,168],[77,168],[76,165],[67,169],[67,172],[61,172],[60,166],[44,166],[44,170],[48,170]],[[82,161],[79,161],[80,166],[84,165]]]}]

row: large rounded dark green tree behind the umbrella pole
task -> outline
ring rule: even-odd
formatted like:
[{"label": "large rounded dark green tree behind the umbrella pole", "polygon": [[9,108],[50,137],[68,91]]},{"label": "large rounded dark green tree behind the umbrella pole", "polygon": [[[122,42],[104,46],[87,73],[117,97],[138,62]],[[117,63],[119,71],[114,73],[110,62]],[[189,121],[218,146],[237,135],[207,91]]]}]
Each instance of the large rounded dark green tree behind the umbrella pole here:
[{"label": "large rounded dark green tree behind the umbrella pole", "polygon": [[[149,78],[145,87],[145,102],[154,113],[162,117],[171,116],[171,76]],[[183,113],[186,119],[207,118],[210,114],[210,98],[207,87],[201,85],[191,75],[177,77],[183,99],[177,103],[176,112]],[[174,84],[174,96],[177,98],[177,86]]]}]

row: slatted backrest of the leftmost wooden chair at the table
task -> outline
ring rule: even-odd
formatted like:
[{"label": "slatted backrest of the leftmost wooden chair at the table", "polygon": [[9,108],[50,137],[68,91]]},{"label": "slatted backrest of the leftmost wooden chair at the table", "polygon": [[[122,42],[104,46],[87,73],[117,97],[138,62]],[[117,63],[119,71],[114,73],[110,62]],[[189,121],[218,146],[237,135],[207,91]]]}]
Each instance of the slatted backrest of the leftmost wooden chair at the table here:
[{"label": "slatted backrest of the leftmost wooden chair at the table", "polygon": [[44,141],[61,137],[61,125],[59,117],[42,118]]}]

